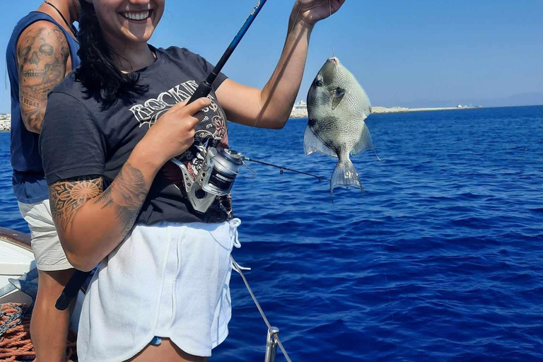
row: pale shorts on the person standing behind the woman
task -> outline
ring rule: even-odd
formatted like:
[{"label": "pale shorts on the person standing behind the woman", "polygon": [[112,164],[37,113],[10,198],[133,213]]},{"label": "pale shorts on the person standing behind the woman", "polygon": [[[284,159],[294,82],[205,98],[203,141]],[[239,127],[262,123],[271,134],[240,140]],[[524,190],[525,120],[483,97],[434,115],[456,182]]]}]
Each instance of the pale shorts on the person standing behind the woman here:
[{"label": "pale shorts on the person standing behind the woman", "polygon": [[32,251],[36,259],[36,267],[42,271],[66,270],[73,268],[66,259],[60,245],[57,228],[54,227],[53,216],[49,208],[49,200],[35,204],[18,202],[21,215],[28,223]]}]

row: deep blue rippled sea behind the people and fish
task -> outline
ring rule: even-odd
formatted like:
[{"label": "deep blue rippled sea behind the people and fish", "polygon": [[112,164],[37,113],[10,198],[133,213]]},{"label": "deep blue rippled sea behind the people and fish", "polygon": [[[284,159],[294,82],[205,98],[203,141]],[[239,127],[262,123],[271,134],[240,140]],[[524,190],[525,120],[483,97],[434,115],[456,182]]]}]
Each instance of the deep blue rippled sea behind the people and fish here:
[{"label": "deep blue rippled sea behind the people and fish", "polygon": [[[256,163],[238,177],[233,255],[292,361],[543,360],[543,107],[370,115],[358,189]],[[230,124],[247,157],[330,177],[303,153],[307,119]],[[28,231],[0,134],[0,226]],[[231,281],[211,361],[262,361],[267,327]],[[278,351],[278,361],[285,361]]]}]

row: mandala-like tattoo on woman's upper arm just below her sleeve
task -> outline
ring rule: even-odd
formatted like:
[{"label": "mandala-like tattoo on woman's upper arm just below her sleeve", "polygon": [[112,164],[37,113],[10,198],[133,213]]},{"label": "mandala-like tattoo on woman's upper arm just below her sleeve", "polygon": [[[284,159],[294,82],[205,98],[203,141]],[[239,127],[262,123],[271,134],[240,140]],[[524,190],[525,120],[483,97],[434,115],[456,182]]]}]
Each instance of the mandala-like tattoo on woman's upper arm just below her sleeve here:
[{"label": "mandala-like tattoo on woman's upper arm just below her sleeve", "polygon": [[57,226],[69,228],[76,211],[89,199],[97,197],[103,189],[101,176],[83,176],[55,182],[49,186],[51,212]]}]

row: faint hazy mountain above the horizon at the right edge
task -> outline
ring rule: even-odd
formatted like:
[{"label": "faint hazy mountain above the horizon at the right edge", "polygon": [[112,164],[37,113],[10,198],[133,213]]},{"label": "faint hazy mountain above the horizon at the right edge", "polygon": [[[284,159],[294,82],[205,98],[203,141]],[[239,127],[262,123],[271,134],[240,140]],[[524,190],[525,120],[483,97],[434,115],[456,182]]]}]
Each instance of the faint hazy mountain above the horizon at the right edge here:
[{"label": "faint hazy mountain above the horizon at the right edge", "polygon": [[459,98],[454,100],[416,100],[398,105],[399,107],[455,107],[456,105],[482,105],[483,107],[508,107],[517,105],[543,105],[542,92],[527,92],[510,95],[504,98],[470,99]]}]

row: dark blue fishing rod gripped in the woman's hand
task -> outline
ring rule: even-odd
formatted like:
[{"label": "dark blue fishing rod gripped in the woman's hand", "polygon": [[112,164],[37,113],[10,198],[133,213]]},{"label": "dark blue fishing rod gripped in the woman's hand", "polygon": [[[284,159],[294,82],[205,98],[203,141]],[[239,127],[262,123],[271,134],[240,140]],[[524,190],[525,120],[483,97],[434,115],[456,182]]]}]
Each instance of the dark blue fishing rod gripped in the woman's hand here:
[{"label": "dark blue fishing rod gripped in the woman's hand", "polygon": [[[194,102],[194,100],[197,100],[198,98],[207,97],[209,93],[211,93],[211,86],[213,85],[215,79],[217,78],[218,74],[221,73],[221,69],[223,69],[223,66],[230,58],[230,55],[232,55],[235,48],[238,47],[238,44],[240,44],[243,35],[247,33],[247,30],[251,26],[252,22],[255,21],[258,13],[262,10],[264,4],[266,4],[266,1],[267,0],[258,0],[257,4],[249,14],[249,17],[247,18],[247,20],[245,20],[245,23],[240,28],[240,31],[238,31],[238,34],[235,35],[232,42],[230,42],[230,45],[228,45],[226,52],[224,52],[223,56],[221,57],[221,59],[219,59],[218,63],[211,71],[211,73],[207,76],[206,80],[202,81],[202,83],[199,84],[198,88],[196,89],[196,91],[194,91],[194,94],[189,99],[189,102],[187,104]],[[172,161],[176,165],[179,165],[180,161],[176,160],[175,158],[172,158]],[[73,300],[77,296],[79,289],[81,288],[81,286],[83,286],[90,274],[91,271],[76,270],[74,275],[71,276],[71,279],[68,281],[68,284],[66,284],[66,286],[64,287],[61,295],[57,299],[57,303],[54,304],[55,308],[57,308],[58,310],[66,310],[66,308],[69,307],[71,300]]]}]

